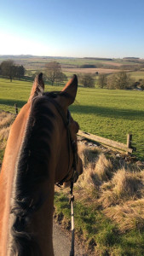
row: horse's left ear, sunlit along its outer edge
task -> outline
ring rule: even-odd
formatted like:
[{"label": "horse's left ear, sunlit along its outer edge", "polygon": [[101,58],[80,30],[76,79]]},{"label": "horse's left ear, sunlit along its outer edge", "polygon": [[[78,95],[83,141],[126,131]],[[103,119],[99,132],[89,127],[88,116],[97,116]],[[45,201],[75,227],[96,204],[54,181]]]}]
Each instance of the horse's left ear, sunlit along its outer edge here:
[{"label": "horse's left ear, sunlit along its outer edge", "polygon": [[41,96],[43,94],[43,90],[44,90],[43,73],[39,73],[39,75],[37,75],[37,77],[34,80],[28,102],[31,102],[32,99],[36,96]]}]

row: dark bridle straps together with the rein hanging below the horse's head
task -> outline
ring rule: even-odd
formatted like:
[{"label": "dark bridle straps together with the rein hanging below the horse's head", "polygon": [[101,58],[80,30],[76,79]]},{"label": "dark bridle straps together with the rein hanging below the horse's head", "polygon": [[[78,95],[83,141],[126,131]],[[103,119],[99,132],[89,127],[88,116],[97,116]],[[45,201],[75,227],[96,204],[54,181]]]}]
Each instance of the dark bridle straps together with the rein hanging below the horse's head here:
[{"label": "dark bridle straps together with the rein hanging below the horse's head", "polygon": [[[69,129],[69,123],[70,123],[70,112],[68,110],[67,112],[67,119],[66,114],[64,113],[63,109],[60,107],[59,103],[55,102],[52,98],[49,98],[49,102],[53,103],[55,105],[55,108],[57,109],[58,113],[60,113],[60,116],[64,122],[64,125],[66,126],[67,131],[67,137],[68,137],[68,153],[69,153],[69,167],[70,168],[70,147],[72,147],[72,153],[73,153],[73,172],[72,177],[70,178],[71,181],[71,225],[72,225],[72,246],[71,246],[71,252],[70,256],[74,256],[74,212],[73,212],[73,202],[74,202],[74,195],[73,195],[73,183],[77,180],[78,172],[77,172],[77,162],[78,162],[78,151],[77,151],[77,144],[75,141],[72,141],[71,137],[71,131]],[[61,187],[61,185],[66,182],[67,177],[69,177],[69,172],[67,173],[66,177],[64,177],[59,183],[55,183],[58,187]]]}]

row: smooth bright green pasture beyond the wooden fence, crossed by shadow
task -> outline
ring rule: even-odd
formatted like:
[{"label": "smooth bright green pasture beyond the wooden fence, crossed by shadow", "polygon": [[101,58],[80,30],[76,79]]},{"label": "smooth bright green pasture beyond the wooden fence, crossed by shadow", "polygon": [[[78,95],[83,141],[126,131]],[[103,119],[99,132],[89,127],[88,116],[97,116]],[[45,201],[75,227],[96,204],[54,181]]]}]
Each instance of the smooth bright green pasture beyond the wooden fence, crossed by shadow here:
[{"label": "smooth bright green pasture beyond the wooden fence, crossed by shadow", "polygon": [[[21,108],[32,89],[31,82],[0,79],[0,109],[14,113],[14,103]],[[46,85],[45,90],[60,90]],[[131,90],[89,89],[78,87],[76,102],[70,107],[80,129],[101,137],[126,143],[133,135],[135,153],[144,159],[144,92]]]}]

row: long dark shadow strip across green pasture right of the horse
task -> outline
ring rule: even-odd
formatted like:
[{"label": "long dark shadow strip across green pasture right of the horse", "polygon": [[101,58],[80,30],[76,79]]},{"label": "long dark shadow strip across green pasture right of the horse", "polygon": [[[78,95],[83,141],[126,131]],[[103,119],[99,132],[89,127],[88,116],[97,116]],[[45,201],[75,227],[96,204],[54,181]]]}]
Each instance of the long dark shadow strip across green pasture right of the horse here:
[{"label": "long dark shadow strip across green pasture right of the horse", "polygon": [[143,110],[131,110],[124,108],[107,108],[99,106],[83,106],[73,105],[71,106],[72,113],[84,113],[84,114],[95,114],[102,117],[113,118],[113,119],[129,119],[129,120],[140,120],[144,117]]}]

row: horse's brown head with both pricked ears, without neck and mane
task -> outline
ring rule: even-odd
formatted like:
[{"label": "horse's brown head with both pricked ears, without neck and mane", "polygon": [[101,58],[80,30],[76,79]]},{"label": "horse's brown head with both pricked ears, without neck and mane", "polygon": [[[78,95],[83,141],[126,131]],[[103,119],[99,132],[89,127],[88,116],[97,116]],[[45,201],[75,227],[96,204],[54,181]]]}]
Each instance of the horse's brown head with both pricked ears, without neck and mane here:
[{"label": "horse's brown head with both pricked ears, without neck and mane", "polygon": [[[45,102],[55,115],[55,127],[52,131],[55,137],[53,143],[55,143],[55,151],[57,151],[55,183],[62,184],[70,180],[76,182],[78,176],[83,172],[77,145],[79,125],[72,119],[68,107],[75,101],[77,95],[77,76],[74,75],[60,92],[44,93],[43,90],[43,75],[40,73],[35,79],[28,102],[32,102],[32,108],[37,108],[37,104],[43,105]],[[51,136],[53,135],[51,134]]]}]

